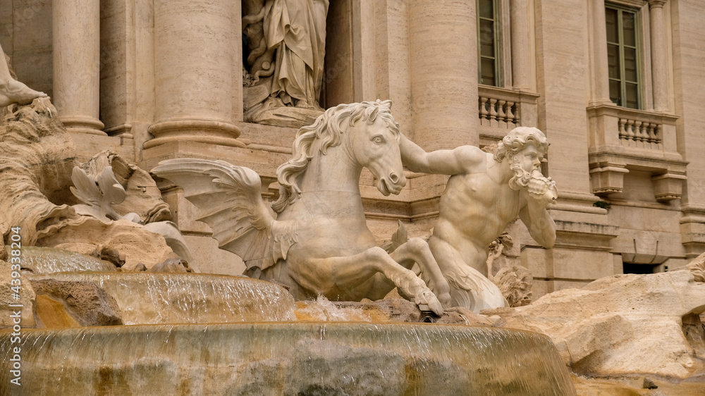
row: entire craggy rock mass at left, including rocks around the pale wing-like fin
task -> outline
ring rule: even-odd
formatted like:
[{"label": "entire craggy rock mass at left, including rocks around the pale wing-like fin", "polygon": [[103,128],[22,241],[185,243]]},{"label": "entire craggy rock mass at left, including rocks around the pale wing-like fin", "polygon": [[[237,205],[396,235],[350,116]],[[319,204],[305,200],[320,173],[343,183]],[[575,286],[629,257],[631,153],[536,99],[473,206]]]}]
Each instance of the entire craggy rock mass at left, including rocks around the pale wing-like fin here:
[{"label": "entire craggy rock mass at left, including rocks around the pale wing-like fin", "polygon": [[[24,246],[61,247],[96,256],[105,248],[114,249],[124,252],[124,268],[130,269],[140,262],[149,268],[177,257],[158,234],[163,233],[183,259],[191,259],[175,226],[163,222],[171,217],[168,205],[147,172],[109,151],[78,167],[71,137],[48,98],[2,111],[2,234],[19,227]],[[111,188],[113,192],[104,194]],[[94,204],[82,204],[72,191]],[[79,213],[73,205],[78,205]],[[135,221],[157,225],[149,230]]]}]

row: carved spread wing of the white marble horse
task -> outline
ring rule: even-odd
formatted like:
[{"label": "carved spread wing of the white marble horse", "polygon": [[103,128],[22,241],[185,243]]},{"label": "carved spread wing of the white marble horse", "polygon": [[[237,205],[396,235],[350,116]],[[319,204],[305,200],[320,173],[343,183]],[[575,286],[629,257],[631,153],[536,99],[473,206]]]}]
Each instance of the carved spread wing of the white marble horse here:
[{"label": "carved spread wing of the white marble horse", "polygon": [[262,181],[250,168],[225,161],[171,159],[152,173],[183,188],[200,209],[199,221],[210,225],[221,249],[240,256],[247,268],[264,270],[286,259],[296,243],[293,223],[276,221],[262,200]]}]

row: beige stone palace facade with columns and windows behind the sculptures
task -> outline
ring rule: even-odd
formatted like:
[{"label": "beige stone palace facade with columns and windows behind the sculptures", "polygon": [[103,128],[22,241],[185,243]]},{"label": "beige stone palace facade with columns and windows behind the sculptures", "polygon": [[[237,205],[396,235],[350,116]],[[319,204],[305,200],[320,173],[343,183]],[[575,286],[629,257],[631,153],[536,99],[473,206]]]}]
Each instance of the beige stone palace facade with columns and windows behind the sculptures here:
[{"label": "beige stone palace facade with columns and windows behind the sculptures", "polygon": [[[0,44],[47,92],[82,158],[147,170],[200,157],[247,166],[277,194],[296,128],[245,122],[243,10],[257,1],[8,0]],[[700,0],[331,0],[321,106],[391,99],[429,150],[486,146],[515,126],[551,143],[552,249],[517,221],[508,257],[534,296],[615,273],[668,271],[705,251],[705,32]],[[370,228],[428,235],[447,177],[398,196],[360,180]],[[274,183],[274,184],[272,184]],[[238,273],[176,187],[161,183],[201,271]]]}]

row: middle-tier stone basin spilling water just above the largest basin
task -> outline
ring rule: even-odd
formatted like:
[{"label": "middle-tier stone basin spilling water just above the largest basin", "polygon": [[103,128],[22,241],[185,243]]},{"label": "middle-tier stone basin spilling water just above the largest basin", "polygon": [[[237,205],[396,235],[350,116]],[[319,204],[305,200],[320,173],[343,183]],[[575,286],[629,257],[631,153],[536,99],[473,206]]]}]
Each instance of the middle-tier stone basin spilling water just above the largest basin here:
[{"label": "middle-tier stone basin spilling water just above the largest basin", "polygon": [[[30,280],[37,294],[93,283],[115,300],[125,325],[295,320],[294,299],[283,287],[244,276],[88,272],[37,275]],[[71,314],[72,307],[65,305]]]}]

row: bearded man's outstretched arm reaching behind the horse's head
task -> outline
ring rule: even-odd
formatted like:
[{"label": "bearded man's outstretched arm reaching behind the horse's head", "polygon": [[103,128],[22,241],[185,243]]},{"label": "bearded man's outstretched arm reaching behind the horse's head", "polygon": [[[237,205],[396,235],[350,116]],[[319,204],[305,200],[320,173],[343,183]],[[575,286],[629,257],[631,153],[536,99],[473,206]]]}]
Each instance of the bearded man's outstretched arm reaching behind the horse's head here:
[{"label": "bearded man's outstretched arm reaching behind the horse's head", "polygon": [[402,163],[412,172],[458,175],[470,172],[474,166],[486,160],[486,153],[474,146],[427,153],[404,135],[401,135],[399,147]]}]

